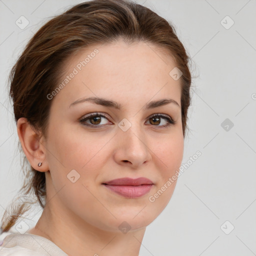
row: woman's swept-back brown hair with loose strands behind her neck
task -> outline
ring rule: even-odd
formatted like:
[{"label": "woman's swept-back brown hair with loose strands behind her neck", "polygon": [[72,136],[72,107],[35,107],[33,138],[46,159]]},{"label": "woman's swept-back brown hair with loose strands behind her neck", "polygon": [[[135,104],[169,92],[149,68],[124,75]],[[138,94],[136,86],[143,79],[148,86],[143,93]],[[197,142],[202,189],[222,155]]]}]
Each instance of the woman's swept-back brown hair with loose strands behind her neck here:
[{"label": "woman's swept-back brown hair with loose strands behind her neck", "polygon": [[[30,39],[9,75],[9,96],[13,101],[15,121],[27,118],[38,134],[46,137],[47,120],[52,100],[47,98],[61,78],[64,61],[88,46],[110,43],[119,38],[127,43],[144,41],[162,48],[175,60],[182,76],[182,131],[187,129],[187,110],[190,105],[191,75],[189,58],[170,22],[149,8],[128,0],[90,0],[79,3],[45,23]],[[19,142],[20,146],[20,142]],[[24,195],[35,194],[44,208],[45,173],[28,167],[23,186]],[[23,164],[23,168],[24,168]],[[1,230],[8,231],[28,210],[29,201],[11,205],[5,210]],[[6,216],[7,215],[7,216]]]}]

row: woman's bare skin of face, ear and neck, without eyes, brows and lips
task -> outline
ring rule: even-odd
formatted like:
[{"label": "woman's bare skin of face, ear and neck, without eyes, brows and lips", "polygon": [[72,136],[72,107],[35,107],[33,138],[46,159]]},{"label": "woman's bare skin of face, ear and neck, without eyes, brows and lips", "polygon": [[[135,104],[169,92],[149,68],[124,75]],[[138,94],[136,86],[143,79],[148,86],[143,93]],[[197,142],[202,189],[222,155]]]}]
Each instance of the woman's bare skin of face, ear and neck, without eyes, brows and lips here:
[{"label": "woman's bare skin of face, ear and neck, without eyes, brows and lips", "polygon": [[[63,79],[95,48],[95,57],[51,99],[46,137],[39,138],[25,118],[17,122],[27,159],[46,177],[46,205],[28,233],[48,238],[68,255],[138,255],[146,226],[167,205],[176,180],[154,202],[148,198],[178,170],[183,157],[180,80],[170,77],[175,64],[160,48],[122,40],[73,55],[65,63]],[[115,100],[122,108],[91,102],[69,107],[89,96]],[[143,110],[148,101],[163,98],[179,106]],[[89,119],[79,122],[95,112],[108,118],[101,117],[102,127],[85,126],[95,123]],[[176,123],[162,127],[164,118],[148,118],[159,113]],[[131,123],[126,131],[118,126],[123,118]],[[80,175],[74,183],[67,178],[72,169]],[[125,198],[102,185],[120,177],[147,177],[154,185],[138,198]],[[118,228],[123,221],[130,226],[127,233]]]}]

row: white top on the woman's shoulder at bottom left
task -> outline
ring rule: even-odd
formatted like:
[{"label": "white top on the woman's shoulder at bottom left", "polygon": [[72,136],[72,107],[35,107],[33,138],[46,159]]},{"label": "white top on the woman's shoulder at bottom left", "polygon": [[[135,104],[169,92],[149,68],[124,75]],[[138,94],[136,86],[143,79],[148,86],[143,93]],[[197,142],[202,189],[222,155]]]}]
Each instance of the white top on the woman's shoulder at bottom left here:
[{"label": "white top on the woman's shoulder at bottom left", "polygon": [[29,233],[0,234],[0,256],[68,256],[49,239]]}]

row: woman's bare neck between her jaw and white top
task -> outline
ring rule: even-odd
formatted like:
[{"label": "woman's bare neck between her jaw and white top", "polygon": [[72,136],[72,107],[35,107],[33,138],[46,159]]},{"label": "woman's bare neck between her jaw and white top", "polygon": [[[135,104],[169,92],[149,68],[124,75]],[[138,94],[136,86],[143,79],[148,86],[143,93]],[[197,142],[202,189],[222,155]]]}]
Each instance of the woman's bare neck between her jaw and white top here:
[{"label": "woman's bare neck between her jaw and white top", "polygon": [[61,204],[57,194],[49,198],[35,227],[30,233],[54,242],[69,256],[138,256],[145,227],[121,231],[99,229]]}]

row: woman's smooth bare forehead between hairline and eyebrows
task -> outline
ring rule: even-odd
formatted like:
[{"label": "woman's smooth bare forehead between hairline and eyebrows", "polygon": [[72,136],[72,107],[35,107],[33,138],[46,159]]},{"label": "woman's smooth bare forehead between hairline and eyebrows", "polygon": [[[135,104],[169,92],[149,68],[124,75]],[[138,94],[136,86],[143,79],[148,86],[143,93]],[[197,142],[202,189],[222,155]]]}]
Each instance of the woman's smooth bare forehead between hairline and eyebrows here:
[{"label": "woman's smooth bare forehead between hairline and eyebrows", "polygon": [[63,67],[60,82],[74,75],[56,97],[68,103],[83,96],[130,102],[168,94],[180,104],[180,79],[169,75],[175,67],[173,58],[147,42],[117,41],[86,47],[69,57]]}]

